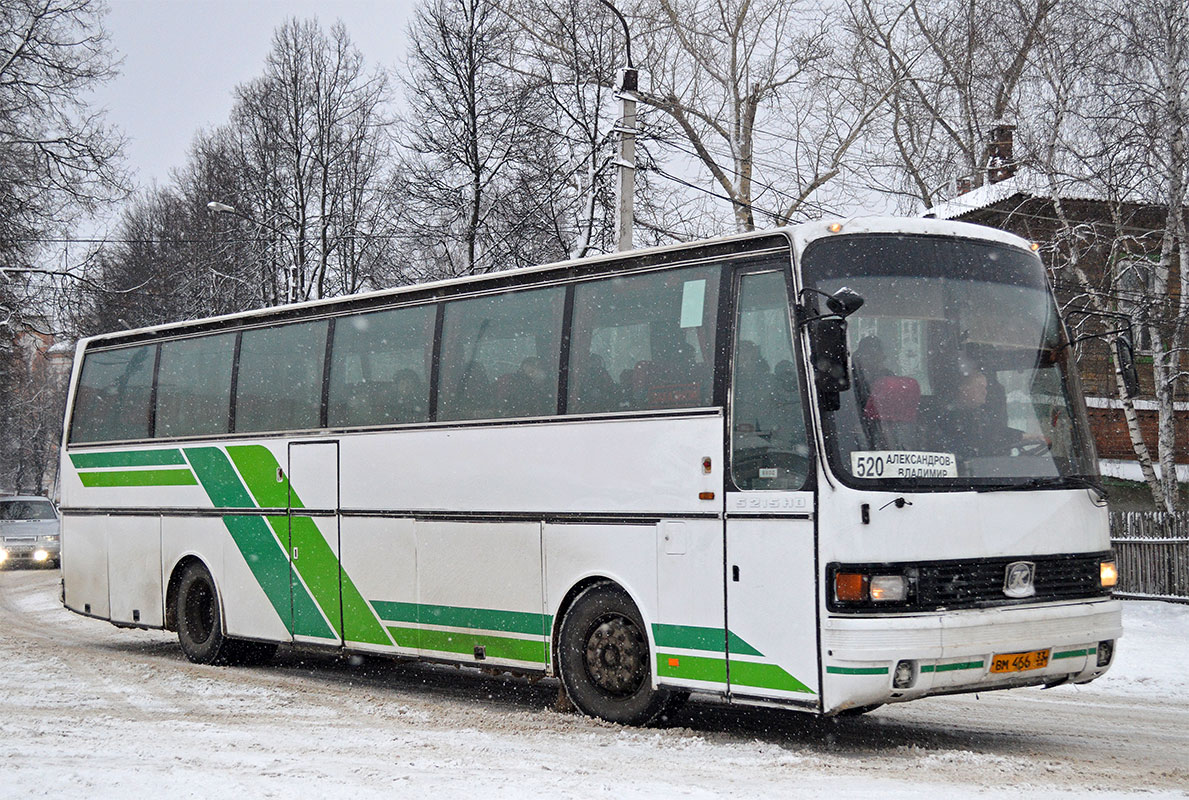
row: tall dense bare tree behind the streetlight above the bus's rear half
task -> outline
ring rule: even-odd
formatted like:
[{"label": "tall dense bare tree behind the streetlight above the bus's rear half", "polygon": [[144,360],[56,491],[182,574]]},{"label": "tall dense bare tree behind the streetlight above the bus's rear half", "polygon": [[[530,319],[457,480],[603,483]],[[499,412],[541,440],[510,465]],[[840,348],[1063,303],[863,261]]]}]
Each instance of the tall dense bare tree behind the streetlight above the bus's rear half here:
[{"label": "tall dense bare tree behind the streetlight above the bus's rear half", "polygon": [[385,204],[388,78],[367,73],[340,24],[287,21],[264,75],[243,86],[220,136],[239,153],[239,235],[269,246],[258,263],[265,303],[377,286],[391,231]]}]

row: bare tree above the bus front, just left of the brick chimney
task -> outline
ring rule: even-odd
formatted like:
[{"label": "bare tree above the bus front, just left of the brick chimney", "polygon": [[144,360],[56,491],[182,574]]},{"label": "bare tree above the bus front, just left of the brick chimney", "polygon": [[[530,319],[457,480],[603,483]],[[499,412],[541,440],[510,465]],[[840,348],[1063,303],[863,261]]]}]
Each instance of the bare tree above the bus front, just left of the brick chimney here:
[{"label": "bare tree above the bus front, just left of the brick chimney", "polygon": [[889,109],[873,126],[873,188],[931,208],[956,179],[982,185],[988,131],[1014,124],[1057,0],[851,0],[857,59]]}]

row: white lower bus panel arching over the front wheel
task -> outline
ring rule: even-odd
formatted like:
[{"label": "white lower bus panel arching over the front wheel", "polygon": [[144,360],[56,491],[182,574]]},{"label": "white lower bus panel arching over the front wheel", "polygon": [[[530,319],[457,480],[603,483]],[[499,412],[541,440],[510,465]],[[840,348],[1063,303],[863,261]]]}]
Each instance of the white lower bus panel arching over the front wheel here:
[{"label": "white lower bus panel arching over the front wheel", "polygon": [[[574,586],[591,578],[615,581],[631,596],[648,629],[649,648],[656,651],[652,623],[658,618],[656,537],[654,524],[546,524],[545,582],[549,621]],[[722,590],[715,594],[722,607]],[[653,669],[653,682],[656,670]]]}]

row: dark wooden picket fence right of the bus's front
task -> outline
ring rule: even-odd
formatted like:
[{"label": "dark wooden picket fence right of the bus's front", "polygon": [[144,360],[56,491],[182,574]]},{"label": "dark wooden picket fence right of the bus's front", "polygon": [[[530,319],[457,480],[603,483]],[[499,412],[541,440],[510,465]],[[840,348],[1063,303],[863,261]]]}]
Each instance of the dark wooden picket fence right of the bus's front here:
[{"label": "dark wooden picket fence right of the bus's front", "polygon": [[1111,544],[1116,597],[1189,603],[1189,511],[1113,512]]}]

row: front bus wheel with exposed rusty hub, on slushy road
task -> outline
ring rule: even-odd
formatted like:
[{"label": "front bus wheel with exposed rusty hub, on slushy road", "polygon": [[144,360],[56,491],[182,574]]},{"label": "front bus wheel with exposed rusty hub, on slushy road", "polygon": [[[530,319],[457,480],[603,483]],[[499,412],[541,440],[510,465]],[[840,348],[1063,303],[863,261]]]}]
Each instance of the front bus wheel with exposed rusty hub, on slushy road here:
[{"label": "front bus wheel with exposed rusty hub, on slushy road", "polygon": [[558,640],[561,682],[583,713],[647,725],[665,711],[669,692],[653,688],[647,629],[622,588],[598,584],[579,594]]}]

